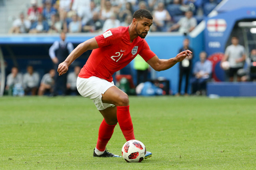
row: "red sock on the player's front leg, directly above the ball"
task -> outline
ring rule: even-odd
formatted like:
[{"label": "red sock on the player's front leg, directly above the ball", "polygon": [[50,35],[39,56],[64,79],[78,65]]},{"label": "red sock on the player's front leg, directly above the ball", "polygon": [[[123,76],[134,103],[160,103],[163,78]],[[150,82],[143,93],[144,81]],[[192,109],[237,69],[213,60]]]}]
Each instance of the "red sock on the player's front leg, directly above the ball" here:
[{"label": "red sock on the player's front leg, directly above the ball", "polygon": [[117,106],[116,116],[126,141],[135,139],[129,106]]}]

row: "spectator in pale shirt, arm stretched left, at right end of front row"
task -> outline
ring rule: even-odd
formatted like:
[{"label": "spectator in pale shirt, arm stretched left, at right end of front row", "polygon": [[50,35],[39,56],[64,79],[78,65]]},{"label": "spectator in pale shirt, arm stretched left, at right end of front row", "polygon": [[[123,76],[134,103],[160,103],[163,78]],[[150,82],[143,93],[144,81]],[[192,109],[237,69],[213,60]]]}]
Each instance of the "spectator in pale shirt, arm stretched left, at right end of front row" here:
[{"label": "spectator in pale shirt, arm stretched left, at right end of front row", "polygon": [[180,33],[187,34],[191,32],[197,25],[196,19],[193,17],[193,12],[192,11],[187,11],[185,13],[185,17],[180,18],[178,23],[174,24],[171,28],[170,31],[176,30],[179,28]]}]

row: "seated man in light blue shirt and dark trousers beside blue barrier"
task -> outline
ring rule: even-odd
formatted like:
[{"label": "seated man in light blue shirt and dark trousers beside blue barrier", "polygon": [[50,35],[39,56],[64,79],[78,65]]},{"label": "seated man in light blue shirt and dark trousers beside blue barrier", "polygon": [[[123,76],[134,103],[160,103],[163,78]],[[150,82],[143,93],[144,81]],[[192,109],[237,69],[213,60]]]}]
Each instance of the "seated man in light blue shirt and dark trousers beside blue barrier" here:
[{"label": "seated man in light blue shirt and dark trousers beside blue barrier", "polygon": [[199,54],[200,61],[195,63],[191,78],[192,94],[205,95],[206,82],[211,78],[212,63],[207,60],[206,52],[202,51]]}]

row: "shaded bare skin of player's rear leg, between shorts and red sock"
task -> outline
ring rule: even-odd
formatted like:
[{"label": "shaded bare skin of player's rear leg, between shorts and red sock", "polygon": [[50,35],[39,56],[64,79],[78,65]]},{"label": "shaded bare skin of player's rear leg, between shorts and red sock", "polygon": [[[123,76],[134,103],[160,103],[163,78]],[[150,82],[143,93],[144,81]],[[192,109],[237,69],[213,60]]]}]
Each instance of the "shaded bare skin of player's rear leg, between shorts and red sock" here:
[{"label": "shaded bare skin of player's rear leg, between shorts and red sock", "polygon": [[108,125],[115,125],[117,124],[117,117],[116,117],[116,106],[108,107],[104,110],[99,110],[102,116],[104,117],[106,123]]}]

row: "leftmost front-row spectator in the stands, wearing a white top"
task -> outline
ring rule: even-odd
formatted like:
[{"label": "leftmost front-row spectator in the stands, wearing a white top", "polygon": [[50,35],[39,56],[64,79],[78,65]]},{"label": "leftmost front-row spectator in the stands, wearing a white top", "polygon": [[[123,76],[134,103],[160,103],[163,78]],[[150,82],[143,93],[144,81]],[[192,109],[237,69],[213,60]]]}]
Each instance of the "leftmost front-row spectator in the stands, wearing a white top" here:
[{"label": "leftmost front-row spectator in the stands, wearing a white top", "polygon": [[19,15],[20,18],[13,21],[13,27],[9,30],[9,33],[27,33],[31,27],[31,22],[25,19],[24,14]]}]

